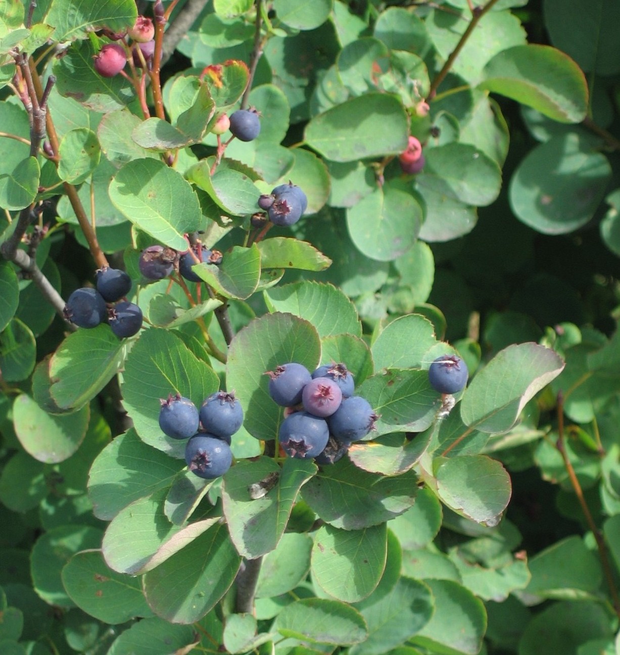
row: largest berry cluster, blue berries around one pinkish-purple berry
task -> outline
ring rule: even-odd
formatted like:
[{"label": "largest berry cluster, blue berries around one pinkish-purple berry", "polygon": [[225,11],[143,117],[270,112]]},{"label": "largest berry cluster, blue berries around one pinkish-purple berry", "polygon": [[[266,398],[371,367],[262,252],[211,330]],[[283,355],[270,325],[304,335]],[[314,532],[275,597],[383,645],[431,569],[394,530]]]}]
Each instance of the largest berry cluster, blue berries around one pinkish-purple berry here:
[{"label": "largest berry cluster, blue berries around one pinkish-purple berry", "polygon": [[370,403],[354,396],[353,376],[344,364],[319,366],[312,375],[290,362],[267,371],[269,394],[285,410],[278,440],[291,457],[333,464],[378,418]]}]

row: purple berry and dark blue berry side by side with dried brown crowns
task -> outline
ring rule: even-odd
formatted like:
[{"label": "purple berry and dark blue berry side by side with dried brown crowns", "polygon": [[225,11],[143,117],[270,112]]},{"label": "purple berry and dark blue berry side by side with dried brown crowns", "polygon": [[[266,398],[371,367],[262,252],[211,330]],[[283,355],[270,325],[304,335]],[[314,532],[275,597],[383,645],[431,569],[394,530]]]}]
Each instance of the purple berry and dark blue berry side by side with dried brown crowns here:
[{"label": "purple berry and dark blue berry side by side with dried brown crowns", "polygon": [[192,271],[192,266],[200,262],[219,265],[222,263],[222,253],[209,250],[200,243],[183,253],[166,246],[149,246],[140,253],[138,266],[148,280],[163,280],[177,270],[189,282],[200,282]]}]

